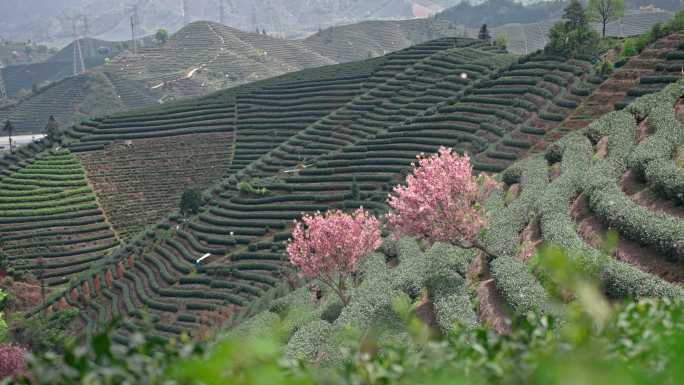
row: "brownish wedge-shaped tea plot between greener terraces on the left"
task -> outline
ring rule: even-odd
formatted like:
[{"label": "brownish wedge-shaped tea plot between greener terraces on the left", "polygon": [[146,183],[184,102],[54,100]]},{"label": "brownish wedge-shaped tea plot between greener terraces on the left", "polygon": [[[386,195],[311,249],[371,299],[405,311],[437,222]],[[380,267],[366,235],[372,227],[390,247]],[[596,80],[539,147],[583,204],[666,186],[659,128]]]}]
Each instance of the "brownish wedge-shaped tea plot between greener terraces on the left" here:
[{"label": "brownish wedge-shaped tea plot between greener terraces on the left", "polygon": [[220,180],[233,157],[232,135],[135,139],[78,158],[112,226],[125,238],[176,210],[187,186],[202,190]]}]

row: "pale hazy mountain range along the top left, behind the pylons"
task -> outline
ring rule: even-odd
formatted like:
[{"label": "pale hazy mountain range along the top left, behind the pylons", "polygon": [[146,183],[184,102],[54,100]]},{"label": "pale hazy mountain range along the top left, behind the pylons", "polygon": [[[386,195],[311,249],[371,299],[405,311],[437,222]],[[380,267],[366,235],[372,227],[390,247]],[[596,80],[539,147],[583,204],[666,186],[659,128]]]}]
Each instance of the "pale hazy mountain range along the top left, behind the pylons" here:
[{"label": "pale hazy mountain range along the top left, behind the pylons", "polygon": [[[319,28],[363,20],[425,17],[459,0],[224,0],[223,22],[244,31],[265,29],[285,37],[304,37]],[[175,32],[188,22],[219,22],[219,2],[188,0],[26,0],[0,2],[0,36],[63,44],[71,40],[71,24],[60,20],[65,10],[88,16],[90,36],[104,40],[130,37],[132,5],[138,5],[139,34],[164,27]]]}]

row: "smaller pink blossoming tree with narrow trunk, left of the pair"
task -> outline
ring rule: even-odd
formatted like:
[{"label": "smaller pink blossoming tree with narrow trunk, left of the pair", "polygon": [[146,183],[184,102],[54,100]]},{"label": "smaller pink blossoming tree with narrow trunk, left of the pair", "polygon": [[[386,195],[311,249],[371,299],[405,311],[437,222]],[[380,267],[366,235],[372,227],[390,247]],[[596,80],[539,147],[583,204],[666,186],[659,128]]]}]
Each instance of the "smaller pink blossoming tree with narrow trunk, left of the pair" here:
[{"label": "smaller pink blossoming tree with narrow trunk, left of the pair", "polygon": [[382,243],[380,223],[363,209],[316,213],[295,222],[287,244],[290,262],[309,279],[318,279],[349,303],[345,282],[358,261]]}]

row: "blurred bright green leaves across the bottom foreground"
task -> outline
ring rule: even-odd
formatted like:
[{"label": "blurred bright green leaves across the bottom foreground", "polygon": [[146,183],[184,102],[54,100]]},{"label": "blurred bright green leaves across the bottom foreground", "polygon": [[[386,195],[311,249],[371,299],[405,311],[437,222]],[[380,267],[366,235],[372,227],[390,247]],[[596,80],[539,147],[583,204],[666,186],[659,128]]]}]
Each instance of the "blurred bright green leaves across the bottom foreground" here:
[{"label": "blurred bright green leaves across the bottom foreground", "polygon": [[[29,377],[13,384],[675,384],[684,374],[684,308],[641,300],[597,317],[577,306],[568,321],[530,313],[514,332],[456,329],[434,337],[405,301],[395,301],[411,342],[383,343],[348,331],[342,363],[312,365],[283,356],[275,321],[259,337],[230,338],[210,349],[188,342],[131,338],[115,347],[107,333],[66,354],[29,358]],[[353,341],[353,342],[352,342]],[[579,381],[579,382],[577,382]]]}]

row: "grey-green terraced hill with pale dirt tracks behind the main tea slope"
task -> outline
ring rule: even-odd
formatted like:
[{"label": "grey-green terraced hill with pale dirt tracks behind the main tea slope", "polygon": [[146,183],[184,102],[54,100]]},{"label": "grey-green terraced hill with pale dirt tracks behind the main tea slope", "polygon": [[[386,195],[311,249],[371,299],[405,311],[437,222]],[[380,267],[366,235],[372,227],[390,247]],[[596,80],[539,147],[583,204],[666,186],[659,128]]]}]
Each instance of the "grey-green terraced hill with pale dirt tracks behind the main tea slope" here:
[{"label": "grey-green terraced hill with pale dirt tracks behind the main tea slope", "polygon": [[[88,45],[116,50],[121,44],[83,40],[88,74],[78,77],[78,81],[66,79],[40,90],[0,110],[0,118],[12,119],[19,131],[39,132],[50,115],[65,125],[85,115],[204,95],[284,73],[377,57],[435,38],[461,35],[462,28],[429,19],[328,28],[304,40],[284,40],[218,23],[194,22],[164,45],[148,45],[137,54],[123,50],[114,56],[115,52],[110,52],[111,60],[95,68],[92,66],[104,62],[104,56],[97,48],[93,49],[94,56],[86,54]],[[16,96],[33,84],[70,76],[72,57],[69,46],[49,62],[5,68],[2,74],[8,92]]]}]

